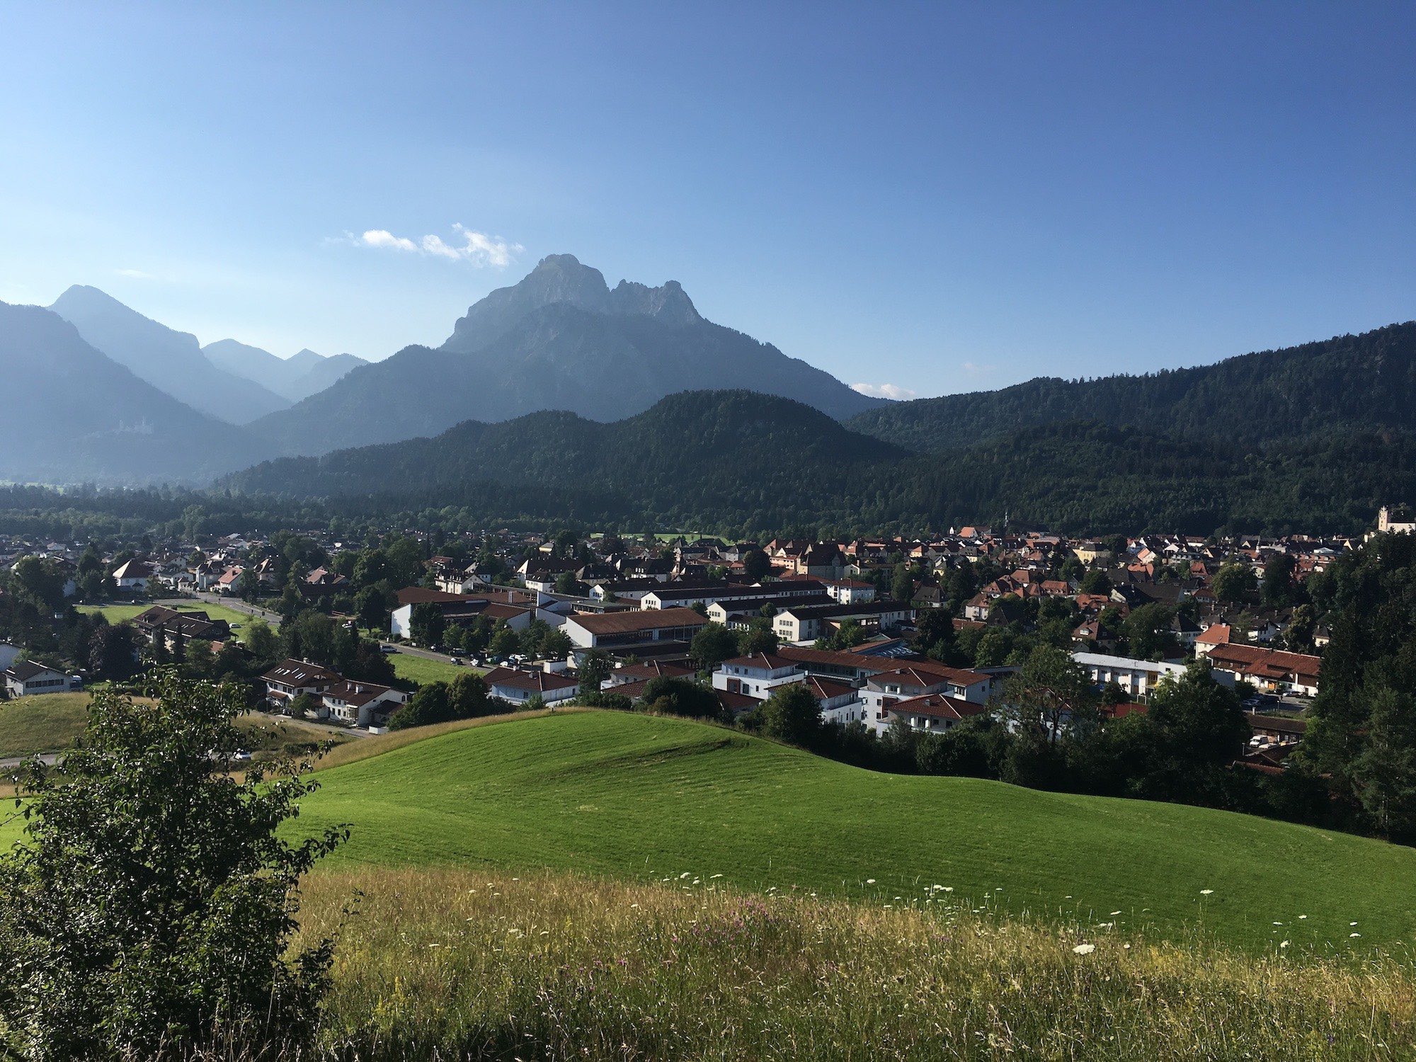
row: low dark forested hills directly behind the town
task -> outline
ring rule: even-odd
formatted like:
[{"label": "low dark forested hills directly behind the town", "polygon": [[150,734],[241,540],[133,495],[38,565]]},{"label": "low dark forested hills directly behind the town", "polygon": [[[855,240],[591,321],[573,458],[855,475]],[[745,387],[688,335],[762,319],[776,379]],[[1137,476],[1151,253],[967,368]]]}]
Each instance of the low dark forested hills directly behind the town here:
[{"label": "low dark forested hills directly behind the town", "polygon": [[432,439],[269,462],[252,494],[341,511],[459,507],[476,521],[573,520],[721,534],[918,534],[966,523],[1058,531],[1355,532],[1416,497],[1416,438],[1347,433],[1255,453],[1097,422],[1041,425],[912,455],[810,406],[684,392],[615,423],[541,412]]}]

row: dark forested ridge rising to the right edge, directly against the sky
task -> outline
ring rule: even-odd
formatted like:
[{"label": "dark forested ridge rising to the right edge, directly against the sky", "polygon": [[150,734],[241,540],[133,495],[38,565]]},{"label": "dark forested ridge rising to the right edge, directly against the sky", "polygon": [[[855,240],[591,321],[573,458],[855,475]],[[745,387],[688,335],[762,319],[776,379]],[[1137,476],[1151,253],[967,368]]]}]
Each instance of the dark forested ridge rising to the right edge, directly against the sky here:
[{"label": "dark forested ridge rising to the right edge, directly against the sky", "polygon": [[1143,377],[1044,377],[1003,391],[895,402],[848,423],[927,452],[1083,419],[1245,446],[1416,430],[1416,321]]}]

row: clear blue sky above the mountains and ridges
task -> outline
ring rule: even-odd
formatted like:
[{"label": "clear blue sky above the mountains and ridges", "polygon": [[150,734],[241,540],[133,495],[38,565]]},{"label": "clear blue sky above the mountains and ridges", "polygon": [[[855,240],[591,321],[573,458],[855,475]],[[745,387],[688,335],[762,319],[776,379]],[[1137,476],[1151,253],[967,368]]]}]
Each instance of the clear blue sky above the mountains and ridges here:
[{"label": "clear blue sky above the mountains and ridges", "polygon": [[415,7],[0,3],[0,299],[378,358],[571,252],[920,395],[1416,317],[1412,4]]}]

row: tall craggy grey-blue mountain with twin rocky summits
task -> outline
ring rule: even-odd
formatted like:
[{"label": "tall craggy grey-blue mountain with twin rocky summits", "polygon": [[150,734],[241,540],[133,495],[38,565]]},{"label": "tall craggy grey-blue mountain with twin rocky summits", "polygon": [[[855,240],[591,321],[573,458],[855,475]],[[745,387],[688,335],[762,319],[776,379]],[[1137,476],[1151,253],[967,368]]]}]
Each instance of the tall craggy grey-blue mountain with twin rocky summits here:
[{"label": "tall craggy grey-blue mountain with twin rocky summits", "polygon": [[439,350],[406,347],[361,365],[263,418],[259,430],[289,452],[326,453],[539,409],[616,421],[698,388],[784,395],[834,418],[882,404],[704,320],[673,280],[661,287],[622,280],[612,290],[598,269],[552,255],[472,306]]}]

